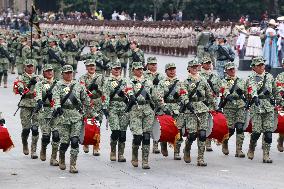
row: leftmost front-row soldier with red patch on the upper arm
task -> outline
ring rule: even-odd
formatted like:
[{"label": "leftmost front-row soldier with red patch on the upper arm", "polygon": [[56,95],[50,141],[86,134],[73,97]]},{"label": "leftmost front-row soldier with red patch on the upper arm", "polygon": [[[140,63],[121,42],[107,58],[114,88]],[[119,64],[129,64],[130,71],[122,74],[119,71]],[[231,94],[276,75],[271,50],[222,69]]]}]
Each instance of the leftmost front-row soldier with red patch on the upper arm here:
[{"label": "leftmost front-row soldier with red patch on the upper arm", "polygon": [[37,141],[38,141],[38,123],[37,116],[34,115],[34,107],[36,104],[34,98],[35,84],[40,81],[41,77],[35,75],[36,60],[26,59],[24,61],[24,73],[14,82],[14,93],[20,94],[21,100],[18,104],[18,108],[21,108],[20,118],[22,124],[22,143],[23,153],[29,155],[28,137],[30,130],[32,131],[32,143],[31,143],[31,158],[37,159],[36,154]]}]

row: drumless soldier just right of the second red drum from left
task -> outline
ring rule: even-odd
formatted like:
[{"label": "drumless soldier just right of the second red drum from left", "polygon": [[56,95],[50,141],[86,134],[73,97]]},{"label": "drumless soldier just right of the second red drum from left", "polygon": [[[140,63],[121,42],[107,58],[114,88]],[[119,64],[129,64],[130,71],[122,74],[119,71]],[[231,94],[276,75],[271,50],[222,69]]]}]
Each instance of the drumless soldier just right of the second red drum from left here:
[{"label": "drumless soldier just right of the second red drum from left", "polygon": [[111,75],[103,88],[103,112],[109,121],[110,160],[116,161],[116,146],[118,143],[118,162],[126,162],[124,148],[126,131],[129,125],[129,114],[125,112],[127,80],[121,77],[121,64],[115,62],[111,67]]}]

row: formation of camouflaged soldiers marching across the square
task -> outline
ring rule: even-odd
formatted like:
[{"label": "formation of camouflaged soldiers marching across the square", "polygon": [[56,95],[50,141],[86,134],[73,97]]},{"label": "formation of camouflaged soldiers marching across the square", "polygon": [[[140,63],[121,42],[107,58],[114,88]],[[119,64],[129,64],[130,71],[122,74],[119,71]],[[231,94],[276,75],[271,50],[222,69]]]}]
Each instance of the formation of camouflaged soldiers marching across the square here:
[{"label": "formation of camouflaged soldiers marching across the square", "polygon": [[[246,156],[242,147],[250,112],[252,133],[247,157],[254,158],[257,141],[263,134],[263,163],[272,163],[269,152],[277,125],[274,117],[284,102],[284,74],[274,79],[265,72],[265,60],[255,57],[249,77],[246,80],[237,77],[235,54],[227,38],[208,35],[205,29],[204,36],[199,38],[205,41],[206,37],[207,43],[202,41],[197,47],[198,56],[188,62],[188,77],[184,81],[177,78],[174,63],[166,64],[165,74],[159,73],[157,58],[145,60],[139,42],[130,40],[123,31],[117,36],[105,32],[102,39],[90,42],[90,52],[86,54],[82,53],[85,47],[82,39],[74,32],[51,30],[42,35],[22,35],[1,31],[0,79],[3,76],[4,87],[8,87],[9,67],[12,73],[17,68],[19,75],[13,91],[21,96],[18,109],[23,153],[37,159],[40,146],[39,157],[46,161],[46,148],[51,143],[50,165],[65,170],[65,154],[70,146],[70,172],[78,173],[82,120],[93,118],[101,125],[105,117],[111,130],[110,160],[126,162],[129,127],[133,135],[131,163],[139,166],[141,146],[142,168],[150,169],[155,117],[169,115],[176,120],[180,133],[174,145],[174,159],[181,160],[183,152],[183,160],[190,163],[192,144],[197,140],[197,165],[207,166],[204,153],[212,151],[211,140],[207,138],[209,112],[223,113],[227,118],[229,136],[222,143],[222,152],[229,154],[228,141],[236,132],[235,157],[239,158]],[[84,62],[86,73],[76,80],[79,61]],[[215,64],[218,74],[213,72]],[[283,138],[280,134],[277,144],[280,152],[283,152]],[[168,156],[167,142],[161,142],[160,146],[161,151],[159,141],[153,141],[152,152]],[[99,156],[99,145],[92,148],[93,155]],[[83,150],[89,152],[89,146],[84,145]]]}]

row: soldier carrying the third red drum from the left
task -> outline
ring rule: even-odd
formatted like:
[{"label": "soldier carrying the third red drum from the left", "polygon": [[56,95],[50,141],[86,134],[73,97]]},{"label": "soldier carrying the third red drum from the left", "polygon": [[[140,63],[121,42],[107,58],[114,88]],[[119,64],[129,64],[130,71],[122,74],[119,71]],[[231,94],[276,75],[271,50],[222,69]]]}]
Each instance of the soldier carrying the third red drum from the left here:
[{"label": "soldier carrying the third red drum from the left", "polygon": [[[159,82],[157,93],[161,97],[162,103],[160,104],[160,109],[163,113],[172,116],[175,120],[179,118],[182,82],[176,77],[176,65],[174,63],[166,64],[165,66],[166,77]],[[181,126],[178,125],[178,129],[181,133]],[[183,139],[177,140],[174,149],[174,159],[181,160],[180,157],[180,146]],[[161,152],[163,156],[168,156],[167,142],[161,142]]]}]

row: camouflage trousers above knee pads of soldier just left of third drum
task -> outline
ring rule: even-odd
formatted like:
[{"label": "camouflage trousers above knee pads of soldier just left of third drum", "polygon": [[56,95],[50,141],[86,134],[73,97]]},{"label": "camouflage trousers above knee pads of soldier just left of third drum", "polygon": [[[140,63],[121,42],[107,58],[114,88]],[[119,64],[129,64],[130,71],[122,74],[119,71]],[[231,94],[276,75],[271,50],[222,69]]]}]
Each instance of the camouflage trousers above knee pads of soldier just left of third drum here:
[{"label": "camouflage trousers above knee pads of soldier just left of third drum", "polygon": [[155,113],[149,104],[135,105],[129,114],[130,130],[133,135],[143,135],[152,131]]}]

